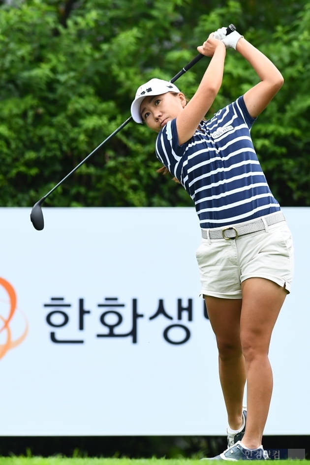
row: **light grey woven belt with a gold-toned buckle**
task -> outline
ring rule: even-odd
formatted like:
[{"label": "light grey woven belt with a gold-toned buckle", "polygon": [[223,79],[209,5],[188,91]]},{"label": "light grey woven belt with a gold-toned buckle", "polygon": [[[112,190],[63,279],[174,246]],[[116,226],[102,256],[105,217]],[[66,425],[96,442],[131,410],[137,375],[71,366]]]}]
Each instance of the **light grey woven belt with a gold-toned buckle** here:
[{"label": "light grey woven belt with a gold-toned buckle", "polygon": [[245,234],[250,234],[252,232],[262,231],[266,229],[267,226],[272,224],[279,223],[280,221],[285,221],[283,213],[279,212],[275,215],[260,218],[257,221],[253,221],[243,226],[227,226],[223,229],[202,229],[201,235],[203,239],[237,239],[239,236],[244,236]]}]

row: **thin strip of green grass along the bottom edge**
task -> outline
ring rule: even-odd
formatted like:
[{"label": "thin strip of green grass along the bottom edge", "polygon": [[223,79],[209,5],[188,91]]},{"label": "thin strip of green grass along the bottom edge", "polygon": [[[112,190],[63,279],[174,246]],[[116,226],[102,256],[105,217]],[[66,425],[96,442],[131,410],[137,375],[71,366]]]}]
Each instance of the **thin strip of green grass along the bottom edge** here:
[{"label": "thin strip of green grass along the bottom edge", "polygon": [[[298,464],[309,462],[299,460]],[[100,458],[65,458],[65,457],[0,457],[0,465],[202,465],[192,459],[100,459]],[[212,461],[216,464],[217,461]],[[270,462],[269,462],[270,463]],[[296,465],[294,460],[277,460],[277,465]]]}]

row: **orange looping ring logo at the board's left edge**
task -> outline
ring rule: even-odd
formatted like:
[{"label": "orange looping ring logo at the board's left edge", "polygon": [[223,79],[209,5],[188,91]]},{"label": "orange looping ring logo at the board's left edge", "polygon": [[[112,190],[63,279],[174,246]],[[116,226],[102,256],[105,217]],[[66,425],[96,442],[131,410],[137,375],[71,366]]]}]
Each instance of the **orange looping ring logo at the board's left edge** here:
[{"label": "orange looping ring logo at the board's left edge", "polygon": [[[4,357],[8,350],[13,349],[17,345],[21,344],[25,340],[28,333],[28,321],[24,314],[22,314],[24,329],[22,330],[22,334],[17,339],[13,340],[12,325],[13,317],[16,316],[17,298],[15,290],[11,284],[5,279],[0,278],[0,291],[3,289],[8,295],[8,300],[0,299],[0,359]],[[3,311],[2,308],[4,308]],[[5,313],[5,315],[3,313]]]}]

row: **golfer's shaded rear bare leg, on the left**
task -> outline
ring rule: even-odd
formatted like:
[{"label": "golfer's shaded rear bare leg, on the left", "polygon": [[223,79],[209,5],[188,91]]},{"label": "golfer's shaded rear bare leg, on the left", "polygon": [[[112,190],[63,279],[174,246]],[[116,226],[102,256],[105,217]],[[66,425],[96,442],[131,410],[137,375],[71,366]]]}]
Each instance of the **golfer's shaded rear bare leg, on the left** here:
[{"label": "golfer's shaded rear bare leg, on the left", "polygon": [[241,299],[205,296],[208,316],[216,335],[219,379],[227,410],[228,425],[242,425],[242,403],[246,382],[245,360],[240,341]]}]

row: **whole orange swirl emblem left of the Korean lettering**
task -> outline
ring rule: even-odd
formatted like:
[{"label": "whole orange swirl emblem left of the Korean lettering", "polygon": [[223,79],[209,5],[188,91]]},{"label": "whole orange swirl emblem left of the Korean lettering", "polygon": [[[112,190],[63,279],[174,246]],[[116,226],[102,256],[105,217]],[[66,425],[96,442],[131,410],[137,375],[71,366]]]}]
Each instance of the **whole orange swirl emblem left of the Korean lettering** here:
[{"label": "whole orange swirl emblem left of the Korean lettering", "polygon": [[28,321],[17,309],[16,292],[6,279],[0,278],[0,359],[20,345],[27,334]]}]

